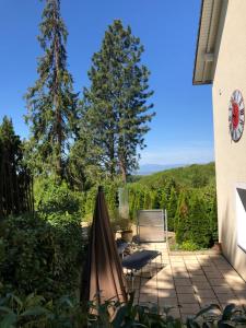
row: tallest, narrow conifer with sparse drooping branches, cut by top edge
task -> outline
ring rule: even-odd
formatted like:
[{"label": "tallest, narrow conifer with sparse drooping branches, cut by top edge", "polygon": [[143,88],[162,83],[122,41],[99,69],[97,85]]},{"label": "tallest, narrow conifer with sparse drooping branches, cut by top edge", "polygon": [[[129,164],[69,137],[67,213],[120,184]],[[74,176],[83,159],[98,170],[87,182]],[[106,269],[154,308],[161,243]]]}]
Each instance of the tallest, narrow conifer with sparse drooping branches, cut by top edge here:
[{"label": "tallest, narrow conifer with sparse drooping branches, cut by top edge", "polygon": [[[38,80],[26,94],[32,151],[39,169],[61,177],[69,140],[75,125],[77,97],[67,69],[68,32],[60,15],[60,0],[47,0],[38,40],[44,56],[38,60]],[[38,163],[36,163],[38,166]]]}]

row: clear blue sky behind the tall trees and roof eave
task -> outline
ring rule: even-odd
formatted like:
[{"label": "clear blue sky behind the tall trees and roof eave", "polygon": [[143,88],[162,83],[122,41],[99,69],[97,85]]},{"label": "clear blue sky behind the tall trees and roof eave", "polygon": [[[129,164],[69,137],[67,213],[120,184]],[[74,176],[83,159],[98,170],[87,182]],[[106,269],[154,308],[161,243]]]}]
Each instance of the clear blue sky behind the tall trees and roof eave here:
[{"label": "clear blue sky behind the tall trees and roof eave", "polygon": [[[0,0],[0,119],[11,116],[21,137],[28,136],[23,95],[37,77],[43,7],[38,0]],[[129,24],[144,45],[156,116],[141,164],[213,160],[211,85],[192,85],[199,12],[200,0],[61,0],[75,91],[87,85],[91,57],[114,19]]]}]

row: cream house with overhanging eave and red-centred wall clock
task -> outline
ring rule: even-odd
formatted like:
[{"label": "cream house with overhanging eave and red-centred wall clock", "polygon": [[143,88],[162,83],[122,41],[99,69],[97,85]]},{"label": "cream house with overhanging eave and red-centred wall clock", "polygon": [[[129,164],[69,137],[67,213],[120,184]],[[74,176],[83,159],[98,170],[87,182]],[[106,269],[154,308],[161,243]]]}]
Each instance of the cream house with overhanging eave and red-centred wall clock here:
[{"label": "cream house with overhanging eave and red-centred wall clock", "polygon": [[201,3],[194,84],[208,83],[213,97],[219,241],[246,280],[246,0]]}]

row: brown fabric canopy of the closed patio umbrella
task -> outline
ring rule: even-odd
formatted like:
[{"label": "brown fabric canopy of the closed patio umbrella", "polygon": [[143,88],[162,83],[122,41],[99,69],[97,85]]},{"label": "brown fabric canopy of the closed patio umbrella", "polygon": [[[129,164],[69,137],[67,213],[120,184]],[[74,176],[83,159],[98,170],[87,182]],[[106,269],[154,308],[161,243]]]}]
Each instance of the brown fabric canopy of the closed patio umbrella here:
[{"label": "brown fabric canopy of the closed patio umbrella", "polygon": [[82,277],[81,300],[127,301],[121,261],[112,231],[103,188],[98,188],[87,258]]}]

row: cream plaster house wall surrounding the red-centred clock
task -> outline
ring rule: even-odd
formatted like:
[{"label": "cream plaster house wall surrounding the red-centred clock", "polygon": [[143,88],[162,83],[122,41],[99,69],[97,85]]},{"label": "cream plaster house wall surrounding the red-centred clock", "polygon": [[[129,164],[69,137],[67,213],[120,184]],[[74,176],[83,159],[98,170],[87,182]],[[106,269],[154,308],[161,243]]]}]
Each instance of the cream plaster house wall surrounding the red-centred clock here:
[{"label": "cream plaster house wall surrounding the red-centred clock", "polygon": [[225,257],[246,280],[246,253],[237,246],[236,222],[236,185],[246,184],[246,126],[238,142],[229,130],[234,90],[242,92],[246,106],[246,0],[226,2],[212,87],[219,238]]}]

